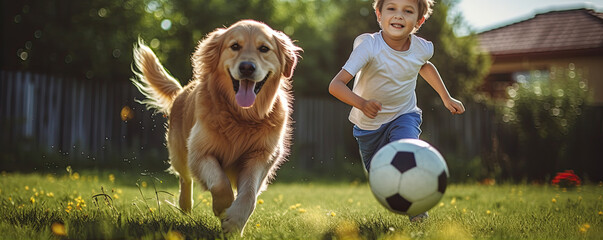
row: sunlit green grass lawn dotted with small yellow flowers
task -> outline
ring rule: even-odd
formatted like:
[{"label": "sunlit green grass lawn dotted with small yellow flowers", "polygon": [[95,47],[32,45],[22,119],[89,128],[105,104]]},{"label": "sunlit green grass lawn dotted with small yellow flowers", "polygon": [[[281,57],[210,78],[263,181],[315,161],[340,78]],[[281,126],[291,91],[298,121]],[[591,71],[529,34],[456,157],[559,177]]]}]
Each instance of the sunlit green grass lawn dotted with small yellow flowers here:
[{"label": "sunlit green grass lawn dotted with small yellow flowers", "polygon": [[[222,238],[209,193],[195,189],[192,215],[168,203],[175,202],[176,183],[165,174],[2,173],[0,238]],[[416,224],[381,207],[366,183],[277,181],[259,197],[244,238],[600,239],[602,195],[597,185],[567,191],[549,185],[451,185],[428,221]],[[53,224],[57,233],[63,226],[66,236],[53,233]]]}]

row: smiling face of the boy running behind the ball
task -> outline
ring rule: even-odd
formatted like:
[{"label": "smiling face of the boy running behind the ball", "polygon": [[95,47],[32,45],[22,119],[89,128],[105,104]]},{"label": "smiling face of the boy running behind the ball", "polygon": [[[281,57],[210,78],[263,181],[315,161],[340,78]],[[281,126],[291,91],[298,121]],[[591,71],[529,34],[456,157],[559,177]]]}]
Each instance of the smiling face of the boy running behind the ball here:
[{"label": "smiling face of the boy running behind the ball", "polygon": [[381,29],[391,38],[406,38],[425,21],[419,18],[417,0],[385,0],[376,10]]}]

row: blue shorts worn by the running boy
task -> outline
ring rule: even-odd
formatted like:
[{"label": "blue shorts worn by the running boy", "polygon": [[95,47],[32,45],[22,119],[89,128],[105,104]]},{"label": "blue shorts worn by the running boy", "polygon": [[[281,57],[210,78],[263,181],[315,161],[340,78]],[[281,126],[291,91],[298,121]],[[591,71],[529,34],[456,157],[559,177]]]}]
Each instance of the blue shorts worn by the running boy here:
[{"label": "blue shorts worn by the running boy", "polygon": [[422,121],[421,112],[411,112],[381,125],[377,130],[362,130],[354,125],[354,137],[358,142],[364,169],[368,172],[373,155],[386,144],[404,138],[419,139]]}]

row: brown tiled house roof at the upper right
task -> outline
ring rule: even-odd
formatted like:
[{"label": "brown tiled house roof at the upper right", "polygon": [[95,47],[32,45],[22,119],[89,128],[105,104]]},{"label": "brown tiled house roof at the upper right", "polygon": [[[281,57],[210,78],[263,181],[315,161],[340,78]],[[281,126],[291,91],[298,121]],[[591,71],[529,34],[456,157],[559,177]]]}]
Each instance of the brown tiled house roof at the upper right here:
[{"label": "brown tiled house roof at the upper right", "polygon": [[603,49],[603,13],[552,11],[478,34],[493,56]]}]

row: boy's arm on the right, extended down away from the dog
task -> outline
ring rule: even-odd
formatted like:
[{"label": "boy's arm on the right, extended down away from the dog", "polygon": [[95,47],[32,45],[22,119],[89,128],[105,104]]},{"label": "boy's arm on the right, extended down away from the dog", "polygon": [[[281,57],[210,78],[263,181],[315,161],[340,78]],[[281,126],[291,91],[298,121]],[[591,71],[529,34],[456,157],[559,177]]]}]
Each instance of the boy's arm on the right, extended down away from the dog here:
[{"label": "boy's arm on the right, extended down away from the dog", "polygon": [[440,77],[440,73],[438,73],[438,70],[431,62],[428,61],[425,63],[425,65],[421,67],[421,70],[419,70],[419,74],[421,74],[421,77],[423,77],[440,95],[442,102],[444,102],[444,106],[446,106],[450,113],[461,114],[465,112],[463,103],[450,96],[448,89],[446,89],[446,86],[444,85],[444,81],[442,81],[442,77]]}]

